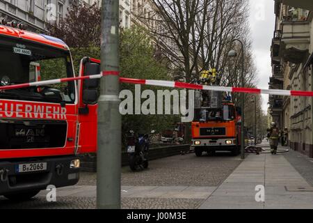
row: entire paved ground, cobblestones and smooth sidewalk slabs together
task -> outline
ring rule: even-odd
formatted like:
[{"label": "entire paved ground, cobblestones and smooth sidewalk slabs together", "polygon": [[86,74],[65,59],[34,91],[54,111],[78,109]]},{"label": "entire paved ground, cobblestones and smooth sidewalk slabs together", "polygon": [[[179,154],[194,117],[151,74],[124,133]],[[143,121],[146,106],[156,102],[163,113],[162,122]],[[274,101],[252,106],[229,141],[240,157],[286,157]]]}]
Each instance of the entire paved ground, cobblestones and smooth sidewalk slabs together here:
[{"label": "entire paved ground, cobblestones and smooth sidewalk slabs together", "polygon": [[[263,148],[268,143],[263,141]],[[278,155],[175,155],[150,162],[145,171],[122,168],[122,208],[313,208],[313,159],[298,152]],[[81,173],[78,185],[46,191],[31,201],[0,198],[0,208],[95,208],[96,174]],[[255,187],[265,186],[265,201]]]}]

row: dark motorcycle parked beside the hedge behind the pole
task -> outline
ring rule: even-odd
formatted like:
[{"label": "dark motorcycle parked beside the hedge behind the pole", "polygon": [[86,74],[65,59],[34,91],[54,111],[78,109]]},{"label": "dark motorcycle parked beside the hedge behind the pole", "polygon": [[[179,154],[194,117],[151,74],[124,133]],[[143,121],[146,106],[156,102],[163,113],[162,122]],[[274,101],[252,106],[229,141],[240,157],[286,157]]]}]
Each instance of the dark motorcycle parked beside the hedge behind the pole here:
[{"label": "dark motorcycle parked beside the hedge behind the pole", "polygon": [[[151,131],[151,134],[154,130]],[[127,134],[127,153],[129,157],[129,167],[132,171],[137,169],[147,169],[148,152],[150,146],[149,134],[138,134],[135,136],[133,130]]]}]

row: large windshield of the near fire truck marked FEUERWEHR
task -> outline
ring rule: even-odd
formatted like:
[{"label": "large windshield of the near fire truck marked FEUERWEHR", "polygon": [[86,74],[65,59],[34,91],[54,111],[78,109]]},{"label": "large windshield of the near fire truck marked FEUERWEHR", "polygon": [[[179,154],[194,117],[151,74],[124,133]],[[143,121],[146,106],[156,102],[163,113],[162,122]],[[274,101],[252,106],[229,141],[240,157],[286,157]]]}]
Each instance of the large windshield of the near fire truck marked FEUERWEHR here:
[{"label": "large windshield of the near fire truck marked FEUERWEHR", "polygon": [[[13,38],[0,38],[0,85],[73,77],[67,50]],[[74,103],[74,82],[0,91],[0,98]]]}]

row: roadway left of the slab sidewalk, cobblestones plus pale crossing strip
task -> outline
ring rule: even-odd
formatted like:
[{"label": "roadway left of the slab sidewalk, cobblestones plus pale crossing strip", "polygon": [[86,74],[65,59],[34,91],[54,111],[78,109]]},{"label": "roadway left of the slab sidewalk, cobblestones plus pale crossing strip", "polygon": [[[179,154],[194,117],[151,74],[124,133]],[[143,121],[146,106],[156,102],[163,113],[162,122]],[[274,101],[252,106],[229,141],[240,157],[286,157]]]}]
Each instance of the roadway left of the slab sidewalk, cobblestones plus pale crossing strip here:
[{"label": "roadway left of the slab sidewalk, cobblestones plus pale crossing strip", "polygon": [[[122,208],[197,208],[241,163],[228,153],[195,157],[194,153],[152,160],[144,171],[122,167]],[[57,189],[57,202],[46,191],[31,201],[0,198],[0,208],[95,208],[96,174],[81,173],[79,184]]]}]

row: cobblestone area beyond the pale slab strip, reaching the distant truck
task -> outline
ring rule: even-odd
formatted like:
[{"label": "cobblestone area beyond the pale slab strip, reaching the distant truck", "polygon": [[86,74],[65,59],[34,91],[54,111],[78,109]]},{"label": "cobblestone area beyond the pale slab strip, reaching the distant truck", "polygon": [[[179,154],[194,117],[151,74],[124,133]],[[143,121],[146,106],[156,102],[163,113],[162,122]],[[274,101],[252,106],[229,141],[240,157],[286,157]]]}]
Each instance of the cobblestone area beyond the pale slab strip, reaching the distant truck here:
[{"label": "cobblestone area beyond the pale slab strip, reaching the distant truck", "polygon": [[[122,185],[132,186],[217,186],[241,163],[239,156],[217,153],[215,156],[175,155],[152,160],[149,168],[133,172],[122,168]],[[95,185],[96,174],[81,173],[79,185]]]}]

